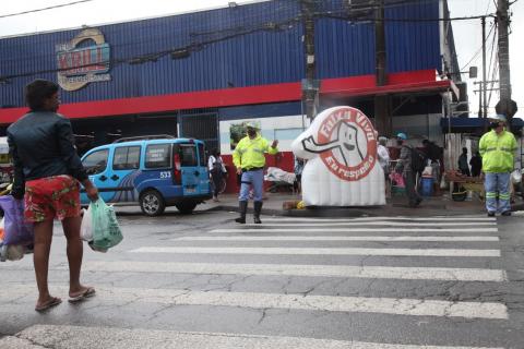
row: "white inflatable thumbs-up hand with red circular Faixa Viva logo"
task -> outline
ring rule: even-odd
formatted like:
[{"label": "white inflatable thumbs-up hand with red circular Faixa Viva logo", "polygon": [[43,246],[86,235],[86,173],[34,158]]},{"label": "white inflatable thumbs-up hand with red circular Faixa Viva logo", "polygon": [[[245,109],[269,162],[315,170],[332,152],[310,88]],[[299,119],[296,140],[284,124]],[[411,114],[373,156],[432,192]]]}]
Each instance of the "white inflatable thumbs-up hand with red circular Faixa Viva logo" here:
[{"label": "white inflatable thumbs-up hand with red circular Faixa Viva logo", "polygon": [[301,179],[307,206],[385,204],[377,132],[360,110],[334,107],[322,111],[291,148],[295,156],[307,160]]}]

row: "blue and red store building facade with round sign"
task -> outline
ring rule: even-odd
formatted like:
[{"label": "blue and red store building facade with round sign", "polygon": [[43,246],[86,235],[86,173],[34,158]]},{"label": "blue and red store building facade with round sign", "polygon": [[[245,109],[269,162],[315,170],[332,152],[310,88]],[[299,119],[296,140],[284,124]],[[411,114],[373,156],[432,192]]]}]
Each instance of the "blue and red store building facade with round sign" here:
[{"label": "blue and red store building facade with round sign", "polygon": [[[350,3],[360,3],[359,12]],[[391,128],[439,141],[456,93],[445,0],[384,1],[385,84],[378,86],[372,1],[314,9],[318,108],[349,105],[373,119],[388,97]],[[26,112],[24,86],[58,82],[79,149],[119,136],[196,137],[230,155],[242,123],[281,141],[270,166],[293,168],[290,142],[309,124],[301,1],[258,1],[194,13],[0,39],[0,136]]]}]

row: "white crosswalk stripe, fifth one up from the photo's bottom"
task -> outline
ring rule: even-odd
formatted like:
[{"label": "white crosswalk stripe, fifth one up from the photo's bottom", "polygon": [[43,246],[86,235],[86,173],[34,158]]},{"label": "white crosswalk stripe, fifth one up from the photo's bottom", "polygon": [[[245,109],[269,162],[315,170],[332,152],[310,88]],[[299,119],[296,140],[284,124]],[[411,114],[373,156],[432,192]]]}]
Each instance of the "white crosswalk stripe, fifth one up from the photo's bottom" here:
[{"label": "white crosswalk stripe, fifth one up from the photo's bottom", "polygon": [[264,236],[264,237],[181,237],[172,241],[419,241],[419,242],[497,242],[499,237],[309,237],[309,236]]}]

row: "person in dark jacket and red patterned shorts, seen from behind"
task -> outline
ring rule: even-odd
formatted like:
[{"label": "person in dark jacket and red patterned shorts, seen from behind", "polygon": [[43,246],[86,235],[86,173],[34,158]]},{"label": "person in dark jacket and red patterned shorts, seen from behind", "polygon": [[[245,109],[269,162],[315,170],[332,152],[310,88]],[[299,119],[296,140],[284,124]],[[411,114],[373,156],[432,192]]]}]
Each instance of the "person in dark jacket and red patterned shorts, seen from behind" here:
[{"label": "person in dark jacket and red patterned shorts, seen from behind", "polygon": [[[59,86],[35,80],[25,87],[31,111],[8,128],[8,142],[14,165],[12,195],[25,198],[24,216],[34,222],[34,266],[38,300],[36,311],[58,305],[48,288],[49,252],[52,224],[62,222],[68,240],[69,300],[75,302],[93,296],[95,289],[80,282],[83,243],[80,238],[80,184],[90,200],[98,200],[98,190],[90,181],[74,148],[71,123],[57,113]],[[24,194],[25,193],[25,194]]]}]

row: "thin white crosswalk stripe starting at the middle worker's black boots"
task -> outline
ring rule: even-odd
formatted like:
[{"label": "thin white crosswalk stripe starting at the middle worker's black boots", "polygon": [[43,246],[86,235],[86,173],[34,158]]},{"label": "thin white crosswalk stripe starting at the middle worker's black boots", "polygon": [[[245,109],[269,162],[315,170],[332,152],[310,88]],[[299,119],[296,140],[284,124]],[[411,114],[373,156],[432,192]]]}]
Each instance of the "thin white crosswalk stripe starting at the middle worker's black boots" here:
[{"label": "thin white crosswalk stripe starting at the middle worker's black boots", "polygon": [[409,221],[311,221],[311,222],[287,222],[274,221],[255,225],[247,224],[248,227],[338,227],[338,226],[390,226],[390,227],[479,227],[497,226],[496,221],[457,221],[457,222],[409,222]]}]

